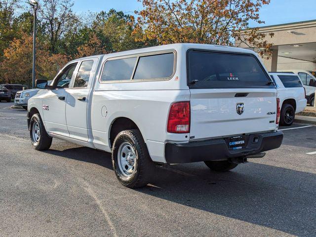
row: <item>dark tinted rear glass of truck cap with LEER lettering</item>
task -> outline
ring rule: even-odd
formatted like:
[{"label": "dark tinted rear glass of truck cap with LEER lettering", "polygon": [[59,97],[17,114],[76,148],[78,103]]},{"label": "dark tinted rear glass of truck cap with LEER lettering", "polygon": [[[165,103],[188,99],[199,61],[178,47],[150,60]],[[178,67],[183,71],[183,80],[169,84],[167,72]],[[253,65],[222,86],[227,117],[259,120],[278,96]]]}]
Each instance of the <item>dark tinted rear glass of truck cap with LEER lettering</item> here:
[{"label": "dark tinted rear glass of truck cap with LEER lettering", "polygon": [[190,88],[275,88],[252,54],[190,49],[187,67]]}]

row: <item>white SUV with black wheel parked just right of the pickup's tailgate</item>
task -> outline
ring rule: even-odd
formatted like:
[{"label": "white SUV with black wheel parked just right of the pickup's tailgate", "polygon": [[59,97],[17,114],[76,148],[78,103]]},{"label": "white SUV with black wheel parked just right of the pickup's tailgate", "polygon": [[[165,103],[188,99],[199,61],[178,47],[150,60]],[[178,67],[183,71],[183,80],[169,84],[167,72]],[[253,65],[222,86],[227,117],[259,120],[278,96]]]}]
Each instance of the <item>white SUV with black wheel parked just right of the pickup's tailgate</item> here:
[{"label": "white SUV with black wheel parked just right of the pickup's tailgate", "polygon": [[289,126],[294,122],[295,114],[305,110],[305,88],[296,74],[270,73],[276,83],[278,98],[280,99],[280,125]]}]

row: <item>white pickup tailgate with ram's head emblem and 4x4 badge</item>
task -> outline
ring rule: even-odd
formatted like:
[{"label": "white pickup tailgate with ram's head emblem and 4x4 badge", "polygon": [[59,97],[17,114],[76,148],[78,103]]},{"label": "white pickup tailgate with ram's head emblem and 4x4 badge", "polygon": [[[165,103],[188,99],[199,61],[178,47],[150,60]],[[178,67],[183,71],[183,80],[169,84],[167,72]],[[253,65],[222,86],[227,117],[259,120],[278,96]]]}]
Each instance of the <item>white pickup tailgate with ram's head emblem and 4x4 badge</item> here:
[{"label": "white pickup tailgate with ram's head emblem and 4x4 badge", "polygon": [[193,139],[276,130],[275,90],[196,89],[190,101]]}]

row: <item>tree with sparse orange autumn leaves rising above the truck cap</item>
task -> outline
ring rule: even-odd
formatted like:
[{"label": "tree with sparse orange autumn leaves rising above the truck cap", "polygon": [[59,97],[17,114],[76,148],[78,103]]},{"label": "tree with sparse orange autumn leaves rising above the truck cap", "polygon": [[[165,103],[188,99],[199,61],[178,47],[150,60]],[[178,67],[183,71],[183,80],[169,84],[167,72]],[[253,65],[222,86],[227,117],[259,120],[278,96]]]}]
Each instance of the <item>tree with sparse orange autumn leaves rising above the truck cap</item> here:
[{"label": "tree with sparse orange autumn leaves rising above the truck cap", "polygon": [[[272,46],[249,29],[249,20],[263,23],[259,9],[270,0],[139,0],[144,9],[139,14],[135,33],[144,28],[138,40],[156,40],[157,44],[190,42],[234,45],[235,39],[249,46]],[[249,29],[244,31],[244,29]],[[241,37],[241,32],[245,35]],[[270,35],[271,37],[273,35]],[[264,52],[262,51],[263,55]]]}]

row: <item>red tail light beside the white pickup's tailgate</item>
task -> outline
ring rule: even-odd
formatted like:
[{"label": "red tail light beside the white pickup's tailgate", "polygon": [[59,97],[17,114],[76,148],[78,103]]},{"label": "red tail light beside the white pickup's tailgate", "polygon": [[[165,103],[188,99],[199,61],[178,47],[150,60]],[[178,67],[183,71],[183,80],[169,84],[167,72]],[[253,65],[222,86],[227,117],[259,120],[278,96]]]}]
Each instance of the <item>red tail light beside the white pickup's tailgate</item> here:
[{"label": "red tail light beside the white pickup's tailgate", "polygon": [[173,103],[170,107],[167,132],[190,132],[190,101]]}]

